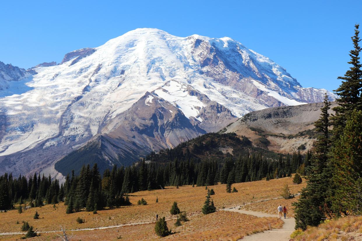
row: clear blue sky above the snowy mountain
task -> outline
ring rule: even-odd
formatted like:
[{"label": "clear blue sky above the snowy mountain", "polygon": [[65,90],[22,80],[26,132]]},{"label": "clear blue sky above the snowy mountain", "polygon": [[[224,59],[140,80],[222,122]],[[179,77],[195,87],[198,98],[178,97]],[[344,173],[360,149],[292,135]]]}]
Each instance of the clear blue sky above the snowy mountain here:
[{"label": "clear blue sky above the snowy mountain", "polygon": [[231,37],[282,65],[303,87],[333,90],[349,67],[362,1],[14,0],[1,3],[0,21],[0,61],[22,68],[59,63],[67,52],[155,27],[176,36]]}]

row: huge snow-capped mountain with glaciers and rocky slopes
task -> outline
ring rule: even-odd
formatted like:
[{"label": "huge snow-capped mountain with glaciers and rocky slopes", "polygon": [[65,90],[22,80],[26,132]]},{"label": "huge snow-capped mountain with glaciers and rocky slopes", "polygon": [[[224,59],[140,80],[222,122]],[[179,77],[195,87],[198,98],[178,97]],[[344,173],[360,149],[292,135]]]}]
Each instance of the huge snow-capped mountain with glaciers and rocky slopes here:
[{"label": "huge snow-capped mountain with glaciers and rocky slopes", "polygon": [[62,63],[37,65],[31,74],[29,90],[0,99],[1,172],[51,169],[100,136],[118,143],[118,151],[102,155],[122,163],[124,143],[135,143],[138,157],[139,150],[217,131],[250,111],[321,102],[325,92],[335,98],[301,87],[284,68],[230,38],[182,38],[158,29],[67,53]]}]

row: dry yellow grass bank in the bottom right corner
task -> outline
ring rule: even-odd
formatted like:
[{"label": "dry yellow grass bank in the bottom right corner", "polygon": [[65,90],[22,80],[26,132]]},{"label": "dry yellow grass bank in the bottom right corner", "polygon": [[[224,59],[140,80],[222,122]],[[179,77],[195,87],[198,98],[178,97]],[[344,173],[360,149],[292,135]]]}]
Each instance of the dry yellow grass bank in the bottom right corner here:
[{"label": "dry yellow grass bank in the bottom right corner", "polygon": [[308,227],[306,231],[295,232],[294,241],[309,240],[362,240],[362,216],[349,216],[327,221],[318,227]]}]

